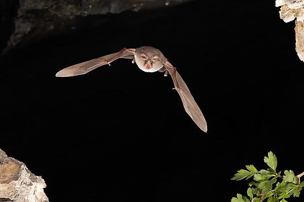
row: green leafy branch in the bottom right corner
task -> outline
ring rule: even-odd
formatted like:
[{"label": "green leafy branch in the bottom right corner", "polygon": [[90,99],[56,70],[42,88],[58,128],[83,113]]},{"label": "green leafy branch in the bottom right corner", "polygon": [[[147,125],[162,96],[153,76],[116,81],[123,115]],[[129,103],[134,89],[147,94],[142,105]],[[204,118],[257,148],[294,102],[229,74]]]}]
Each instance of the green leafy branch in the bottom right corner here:
[{"label": "green leafy branch in the bottom right corner", "polygon": [[237,194],[231,202],[287,202],[290,196],[299,197],[304,182],[300,182],[300,177],[304,172],[294,175],[292,170],[285,170],[284,175],[281,171],[277,172],[277,157],[270,151],[268,157],[264,157],[264,162],[268,165],[267,170],[257,170],[253,165],[246,166],[245,169],[238,170],[232,180],[248,180],[249,183],[247,196]]}]

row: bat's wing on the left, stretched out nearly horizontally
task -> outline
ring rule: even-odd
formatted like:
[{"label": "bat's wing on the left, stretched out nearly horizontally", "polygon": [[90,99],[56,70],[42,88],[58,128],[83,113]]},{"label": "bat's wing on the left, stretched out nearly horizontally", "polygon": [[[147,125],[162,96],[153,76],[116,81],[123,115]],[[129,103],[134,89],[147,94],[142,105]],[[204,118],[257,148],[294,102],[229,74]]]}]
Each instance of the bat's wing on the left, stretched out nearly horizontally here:
[{"label": "bat's wing on the left, stretched out nearly horizontally", "polygon": [[133,48],[123,48],[120,52],[110,54],[107,56],[102,56],[87,62],[79,63],[77,65],[72,65],[70,67],[64,68],[57,72],[57,77],[68,77],[68,76],[77,76],[86,74],[97,67],[103,65],[109,65],[111,62],[119,58],[128,58],[131,59],[135,54],[135,49]]}]

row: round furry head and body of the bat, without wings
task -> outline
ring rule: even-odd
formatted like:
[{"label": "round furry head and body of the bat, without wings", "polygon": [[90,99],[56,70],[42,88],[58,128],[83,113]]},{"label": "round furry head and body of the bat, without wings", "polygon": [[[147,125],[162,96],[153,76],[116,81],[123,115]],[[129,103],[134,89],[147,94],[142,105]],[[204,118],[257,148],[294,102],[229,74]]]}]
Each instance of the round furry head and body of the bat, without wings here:
[{"label": "round furry head and body of the bat, without wings", "polygon": [[151,46],[137,48],[134,58],[139,69],[144,72],[156,72],[160,70],[167,61],[159,49]]}]

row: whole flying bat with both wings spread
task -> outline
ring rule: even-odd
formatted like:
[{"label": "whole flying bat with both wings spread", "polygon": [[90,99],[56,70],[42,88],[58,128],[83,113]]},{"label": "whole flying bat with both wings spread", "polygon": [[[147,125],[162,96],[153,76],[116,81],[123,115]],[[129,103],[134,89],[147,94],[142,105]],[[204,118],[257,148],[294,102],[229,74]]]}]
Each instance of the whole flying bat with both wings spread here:
[{"label": "whole flying bat with both wings spread", "polygon": [[141,46],[139,48],[123,48],[120,52],[102,56],[87,62],[72,65],[57,72],[57,77],[69,77],[86,74],[97,67],[110,65],[111,62],[120,59],[132,59],[132,63],[137,64],[139,69],[144,72],[165,72],[165,76],[171,75],[174,88],[182,101],[186,113],[200,127],[201,130],[207,132],[206,120],[195,102],[190,90],[181,78],[176,68],[168,62],[162,52],[151,46]]}]

